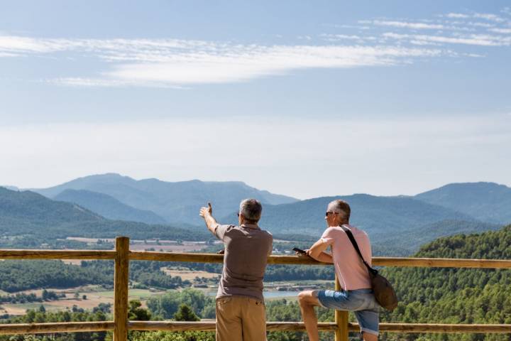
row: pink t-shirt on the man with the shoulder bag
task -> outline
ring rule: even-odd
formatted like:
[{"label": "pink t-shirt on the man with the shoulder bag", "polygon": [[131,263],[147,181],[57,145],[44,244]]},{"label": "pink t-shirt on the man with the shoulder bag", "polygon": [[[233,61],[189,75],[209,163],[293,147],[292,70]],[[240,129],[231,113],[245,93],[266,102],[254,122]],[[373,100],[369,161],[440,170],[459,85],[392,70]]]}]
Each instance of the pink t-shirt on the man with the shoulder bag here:
[{"label": "pink t-shirt on the man with the shoulder bag", "polygon": [[[361,250],[362,256],[371,265],[371,249],[369,237],[366,232],[351,225],[345,224],[353,233],[353,237]],[[368,269],[362,263],[346,232],[341,227],[329,227],[323,232],[322,240],[331,246],[334,258],[334,268],[341,288],[356,290],[370,288]]]}]

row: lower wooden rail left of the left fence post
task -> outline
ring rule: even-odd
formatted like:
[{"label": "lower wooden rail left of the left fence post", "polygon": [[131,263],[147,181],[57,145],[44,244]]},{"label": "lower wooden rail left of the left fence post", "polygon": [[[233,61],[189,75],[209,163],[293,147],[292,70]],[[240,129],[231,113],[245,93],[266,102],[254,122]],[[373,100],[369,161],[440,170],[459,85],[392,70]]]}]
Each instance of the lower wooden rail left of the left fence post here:
[{"label": "lower wooden rail left of the left fence post", "polygon": [[114,321],[64,322],[64,323],[18,323],[0,325],[0,335],[42,334],[54,332],[104,332],[114,329]]}]

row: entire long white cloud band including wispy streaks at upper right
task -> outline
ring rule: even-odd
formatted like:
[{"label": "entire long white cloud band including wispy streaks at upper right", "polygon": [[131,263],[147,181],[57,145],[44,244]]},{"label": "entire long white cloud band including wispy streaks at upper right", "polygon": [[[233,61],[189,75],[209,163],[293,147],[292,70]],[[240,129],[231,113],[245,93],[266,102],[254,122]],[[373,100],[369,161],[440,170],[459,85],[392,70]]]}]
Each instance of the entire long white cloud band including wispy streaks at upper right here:
[{"label": "entire long white cloud band including wispy streaks at upper right", "polygon": [[[441,56],[480,57],[480,50],[455,45],[511,45],[511,19],[493,13],[447,13],[434,19],[358,21],[330,25],[335,33],[300,36],[300,44],[262,45],[183,39],[34,38],[0,34],[0,58],[45,55],[99,60],[80,75],[39,80],[80,87],[189,87],[246,82],[312,68],[375,67]],[[353,32],[356,29],[357,31]],[[383,31],[385,30],[385,31]],[[424,34],[419,34],[418,31]],[[427,34],[425,34],[427,33]],[[97,65],[97,63],[95,63]]]}]

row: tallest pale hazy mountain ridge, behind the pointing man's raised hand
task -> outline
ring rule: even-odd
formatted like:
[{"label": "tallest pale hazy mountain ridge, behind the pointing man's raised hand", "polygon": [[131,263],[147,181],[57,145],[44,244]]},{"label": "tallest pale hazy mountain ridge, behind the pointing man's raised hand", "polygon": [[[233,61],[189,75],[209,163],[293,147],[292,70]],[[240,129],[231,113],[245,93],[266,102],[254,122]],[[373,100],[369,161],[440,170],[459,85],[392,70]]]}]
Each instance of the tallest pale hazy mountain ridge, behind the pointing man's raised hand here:
[{"label": "tallest pale hazy mountain ridge, behind the pointing man's raised hand", "polygon": [[77,178],[52,188],[34,190],[46,197],[55,197],[64,190],[89,190],[114,197],[138,210],[155,212],[172,224],[203,224],[199,208],[212,202],[216,215],[236,210],[239,202],[254,197],[267,205],[297,202],[293,197],[258,190],[239,181],[204,182],[199,180],[165,182],[158,179],[133,180],[109,173]]}]

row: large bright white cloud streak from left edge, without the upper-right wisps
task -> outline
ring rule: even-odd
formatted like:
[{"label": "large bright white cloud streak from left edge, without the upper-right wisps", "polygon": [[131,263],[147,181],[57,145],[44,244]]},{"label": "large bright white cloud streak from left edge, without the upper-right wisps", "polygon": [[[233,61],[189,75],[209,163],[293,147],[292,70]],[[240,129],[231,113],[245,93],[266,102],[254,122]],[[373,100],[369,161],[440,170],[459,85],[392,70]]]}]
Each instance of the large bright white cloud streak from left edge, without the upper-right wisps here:
[{"label": "large bright white cloud streak from left edge, without the upper-right wisps", "polygon": [[[337,37],[339,38],[339,37]],[[441,55],[431,48],[392,45],[239,45],[200,40],[38,39],[4,36],[7,53],[89,54],[109,62],[99,77],[48,80],[73,86],[157,86],[243,82],[307,68],[396,65]]]}]

